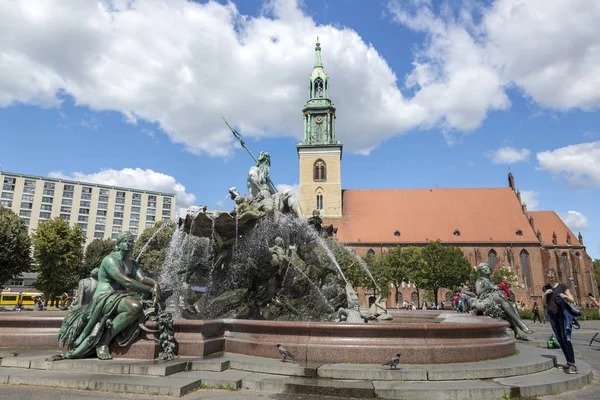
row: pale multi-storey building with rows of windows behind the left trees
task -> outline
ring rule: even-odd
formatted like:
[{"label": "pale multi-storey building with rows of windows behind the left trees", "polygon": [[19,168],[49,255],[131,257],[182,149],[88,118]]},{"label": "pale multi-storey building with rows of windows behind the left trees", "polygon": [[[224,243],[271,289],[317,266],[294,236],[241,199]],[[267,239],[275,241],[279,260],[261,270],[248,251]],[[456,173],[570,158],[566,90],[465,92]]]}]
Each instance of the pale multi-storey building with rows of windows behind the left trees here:
[{"label": "pale multi-storey building with rows of windows behind the left trees", "polygon": [[19,215],[29,232],[59,217],[84,232],[86,243],[130,231],[136,238],[157,221],[175,219],[175,194],[0,172],[0,206]]}]

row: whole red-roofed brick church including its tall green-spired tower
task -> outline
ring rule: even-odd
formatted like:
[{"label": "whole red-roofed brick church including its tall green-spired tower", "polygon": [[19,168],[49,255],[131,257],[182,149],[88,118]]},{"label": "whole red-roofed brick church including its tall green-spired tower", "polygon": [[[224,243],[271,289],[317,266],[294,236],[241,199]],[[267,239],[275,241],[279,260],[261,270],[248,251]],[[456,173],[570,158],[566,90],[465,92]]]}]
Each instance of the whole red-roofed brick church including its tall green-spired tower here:
[{"label": "whole red-roofed brick church including its tall green-spired tower", "polygon": [[[514,272],[517,282],[511,289],[529,307],[541,302],[550,268],[580,304],[589,292],[597,295],[582,235],[575,237],[554,211],[528,212],[510,173],[507,187],[498,188],[342,190],[342,144],[335,139],[335,107],[318,42],[309,83],[304,140],[297,145],[300,204],[304,215],[319,209],[324,224],[336,228],[339,242],[359,256],[377,257],[395,247],[440,240],[460,248],[474,268],[487,262],[492,269]],[[358,292],[364,305],[374,300],[373,293]],[[448,288],[438,293],[441,300],[451,297]],[[414,285],[404,282],[397,295],[392,289],[387,305],[417,298],[422,300]]]}]

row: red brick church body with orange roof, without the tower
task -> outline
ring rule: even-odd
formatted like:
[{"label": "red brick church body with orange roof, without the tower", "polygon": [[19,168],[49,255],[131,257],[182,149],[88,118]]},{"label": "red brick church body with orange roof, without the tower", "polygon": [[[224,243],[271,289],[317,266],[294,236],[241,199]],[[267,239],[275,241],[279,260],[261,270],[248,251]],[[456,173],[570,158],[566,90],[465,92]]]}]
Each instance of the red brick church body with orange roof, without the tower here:
[{"label": "red brick church body with orange roof, without the tower", "polygon": [[[342,191],[343,215],[327,218],[337,240],[359,255],[383,255],[396,246],[425,246],[437,239],[459,247],[473,266],[510,267],[518,282],[518,301],[541,300],[545,272],[554,268],[577,301],[593,291],[592,259],[554,211],[527,211],[512,174],[505,188],[386,189]],[[394,292],[394,291],[392,291]],[[415,301],[416,289],[405,284],[388,307]],[[444,299],[448,289],[438,295]],[[363,295],[368,303],[369,293]]]}]

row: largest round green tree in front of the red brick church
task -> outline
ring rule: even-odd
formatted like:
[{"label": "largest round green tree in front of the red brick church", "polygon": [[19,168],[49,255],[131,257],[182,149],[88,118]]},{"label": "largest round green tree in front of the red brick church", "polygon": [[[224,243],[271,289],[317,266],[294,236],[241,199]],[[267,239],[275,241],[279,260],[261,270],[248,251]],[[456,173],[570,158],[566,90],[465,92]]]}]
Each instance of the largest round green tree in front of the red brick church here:
[{"label": "largest round green tree in front of the red brick church", "polygon": [[433,292],[438,303],[440,288],[453,288],[469,279],[471,266],[458,247],[444,246],[437,240],[423,249],[425,267],[417,274],[423,289]]}]

